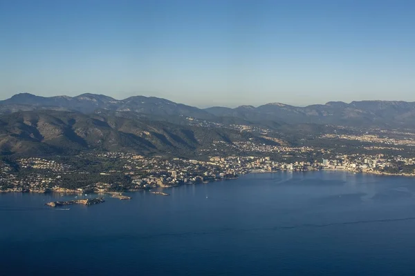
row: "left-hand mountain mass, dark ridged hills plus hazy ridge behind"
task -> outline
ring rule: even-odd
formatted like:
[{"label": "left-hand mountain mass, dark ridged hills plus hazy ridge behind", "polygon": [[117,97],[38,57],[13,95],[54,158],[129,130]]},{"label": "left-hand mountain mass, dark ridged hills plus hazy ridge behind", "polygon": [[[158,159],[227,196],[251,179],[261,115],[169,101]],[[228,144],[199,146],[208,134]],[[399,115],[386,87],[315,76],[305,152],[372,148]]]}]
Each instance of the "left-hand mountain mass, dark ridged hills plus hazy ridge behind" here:
[{"label": "left-hand mountain mass, dark ridged hills plus hazy ridge behind", "polygon": [[[133,151],[142,155],[195,155],[214,142],[277,144],[192,118],[226,121],[210,112],[153,97],[118,101],[104,95],[38,97],[19,94],[0,102],[0,154],[76,154],[80,150]],[[246,123],[235,118],[235,121]],[[217,124],[217,123],[216,123]],[[216,147],[220,148],[220,146]]]}]

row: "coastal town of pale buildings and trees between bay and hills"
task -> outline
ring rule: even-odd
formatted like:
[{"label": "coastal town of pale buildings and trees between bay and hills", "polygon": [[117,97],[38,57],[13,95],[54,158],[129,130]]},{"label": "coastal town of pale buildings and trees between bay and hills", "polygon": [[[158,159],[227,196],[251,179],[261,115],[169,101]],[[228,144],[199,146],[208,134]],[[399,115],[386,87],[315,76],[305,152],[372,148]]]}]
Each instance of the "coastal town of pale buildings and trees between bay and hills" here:
[{"label": "coastal town of pale buildings and trees between bay and hills", "polygon": [[[365,141],[355,152],[311,146],[270,146],[235,142],[239,155],[205,159],[145,157],[131,152],[83,153],[74,158],[29,157],[0,161],[3,193],[122,193],[183,184],[207,184],[252,172],[342,170],[377,175],[415,175],[415,155],[402,146],[412,139],[376,135],[323,135],[326,139]],[[369,142],[369,143],[368,143]],[[212,143],[214,152],[223,141]],[[358,152],[360,151],[360,152]],[[403,156],[401,152],[405,151]],[[409,152],[409,153],[408,153]]]}]

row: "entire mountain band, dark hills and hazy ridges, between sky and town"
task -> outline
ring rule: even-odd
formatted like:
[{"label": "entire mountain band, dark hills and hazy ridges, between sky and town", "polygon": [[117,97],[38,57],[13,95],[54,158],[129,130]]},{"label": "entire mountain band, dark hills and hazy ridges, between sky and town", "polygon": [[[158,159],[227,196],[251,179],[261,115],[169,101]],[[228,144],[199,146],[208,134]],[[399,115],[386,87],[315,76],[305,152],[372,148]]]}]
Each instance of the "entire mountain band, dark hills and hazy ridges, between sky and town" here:
[{"label": "entire mountain band, dark hills and hazy ridges, between sky and town", "polygon": [[[235,142],[290,144],[290,139],[281,137],[317,137],[331,126],[415,128],[415,103],[405,101],[201,109],[156,97],[117,100],[94,94],[39,97],[23,93],[0,101],[0,114],[3,155],[100,150],[192,157],[230,152]],[[257,130],[243,132],[234,125]],[[273,134],[264,136],[264,128]]]}]

